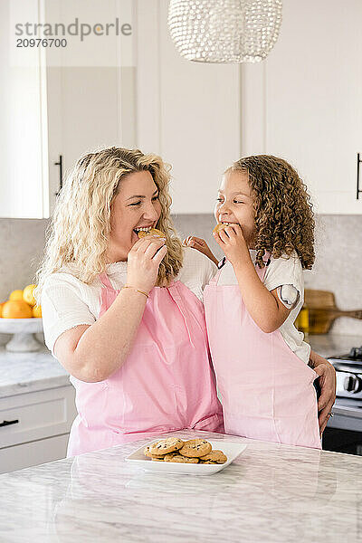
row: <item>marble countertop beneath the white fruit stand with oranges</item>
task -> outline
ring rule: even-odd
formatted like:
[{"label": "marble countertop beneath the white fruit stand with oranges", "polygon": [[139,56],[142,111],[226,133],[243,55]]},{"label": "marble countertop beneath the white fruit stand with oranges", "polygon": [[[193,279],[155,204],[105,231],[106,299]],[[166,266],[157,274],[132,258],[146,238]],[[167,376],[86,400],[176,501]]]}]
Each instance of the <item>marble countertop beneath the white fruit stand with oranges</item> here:
[{"label": "marble countertop beneath the white fruit stand with oranges", "polygon": [[70,385],[69,373],[43,346],[30,353],[0,347],[0,398]]}]

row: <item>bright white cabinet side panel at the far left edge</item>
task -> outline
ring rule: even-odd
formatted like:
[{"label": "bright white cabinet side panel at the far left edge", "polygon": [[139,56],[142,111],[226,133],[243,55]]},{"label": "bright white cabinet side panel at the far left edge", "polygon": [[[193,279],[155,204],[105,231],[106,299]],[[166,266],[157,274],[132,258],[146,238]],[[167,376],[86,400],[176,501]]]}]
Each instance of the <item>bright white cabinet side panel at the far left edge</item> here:
[{"label": "bright white cabinet side panel at the far left edge", "polygon": [[[19,3],[0,3],[0,217],[43,217],[43,117],[40,52],[16,48]],[[38,3],[23,3],[38,21]],[[21,19],[20,19],[21,20]]]}]

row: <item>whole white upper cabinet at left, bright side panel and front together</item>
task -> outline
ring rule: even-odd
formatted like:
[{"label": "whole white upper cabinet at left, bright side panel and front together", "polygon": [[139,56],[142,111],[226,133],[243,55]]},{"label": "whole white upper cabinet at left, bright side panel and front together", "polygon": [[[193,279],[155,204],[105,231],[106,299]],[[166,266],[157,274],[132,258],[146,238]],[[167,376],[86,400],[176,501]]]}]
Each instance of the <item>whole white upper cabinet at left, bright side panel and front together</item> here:
[{"label": "whole white upper cabinet at left, bright side panel and front together", "polygon": [[[131,4],[131,0],[118,0],[87,5],[81,14],[90,23],[97,22],[101,10],[108,21],[120,17],[132,23]],[[129,59],[119,60],[119,36],[107,37],[114,59],[109,60],[108,51],[103,50],[102,58],[76,65],[59,48],[28,47],[15,50],[19,65],[12,65],[8,45],[10,38],[15,40],[10,36],[12,22],[62,24],[81,14],[77,5],[61,0],[25,4],[4,0],[0,4],[0,99],[5,110],[0,116],[0,217],[51,216],[60,189],[60,157],[64,181],[83,153],[136,145],[135,68]],[[129,40],[133,43],[133,36]],[[79,47],[81,51],[82,44]],[[99,50],[101,56],[101,46]]]}]

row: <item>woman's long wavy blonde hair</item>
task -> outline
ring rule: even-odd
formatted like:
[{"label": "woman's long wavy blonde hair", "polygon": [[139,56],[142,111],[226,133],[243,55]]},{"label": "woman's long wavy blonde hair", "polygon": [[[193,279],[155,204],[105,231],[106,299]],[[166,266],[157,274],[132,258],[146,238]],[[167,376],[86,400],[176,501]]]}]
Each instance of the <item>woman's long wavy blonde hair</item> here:
[{"label": "woman's long wavy blonde hair", "polygon": [[159,265],[157,286],[167,286],[183,262],[182,243],[170,219],[170,167],[154,154],[138,149],[105,148],[81,157],[68,176],[47,232],[43,262],[36,273],[38,303],[45,279],[71,263],[71,272],[90,284],[105,270],[112,202],[122,177],[148,171],[159,191],[157,228],[166,234],[167,254]]}]

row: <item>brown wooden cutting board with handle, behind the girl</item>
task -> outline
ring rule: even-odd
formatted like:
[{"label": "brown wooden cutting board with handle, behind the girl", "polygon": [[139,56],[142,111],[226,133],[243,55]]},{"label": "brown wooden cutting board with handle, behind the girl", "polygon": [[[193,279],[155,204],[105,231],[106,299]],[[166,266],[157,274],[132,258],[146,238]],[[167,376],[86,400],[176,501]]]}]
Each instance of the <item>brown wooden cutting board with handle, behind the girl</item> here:
[{"label": "brown wooden cutting board with handle, behind the girl", "polygon": [[310,334],[327,334],[335,319],[351,317],[362,319],[362,310],[339,310],[333,292],[304,291],[304,306],[309,310]]}]

